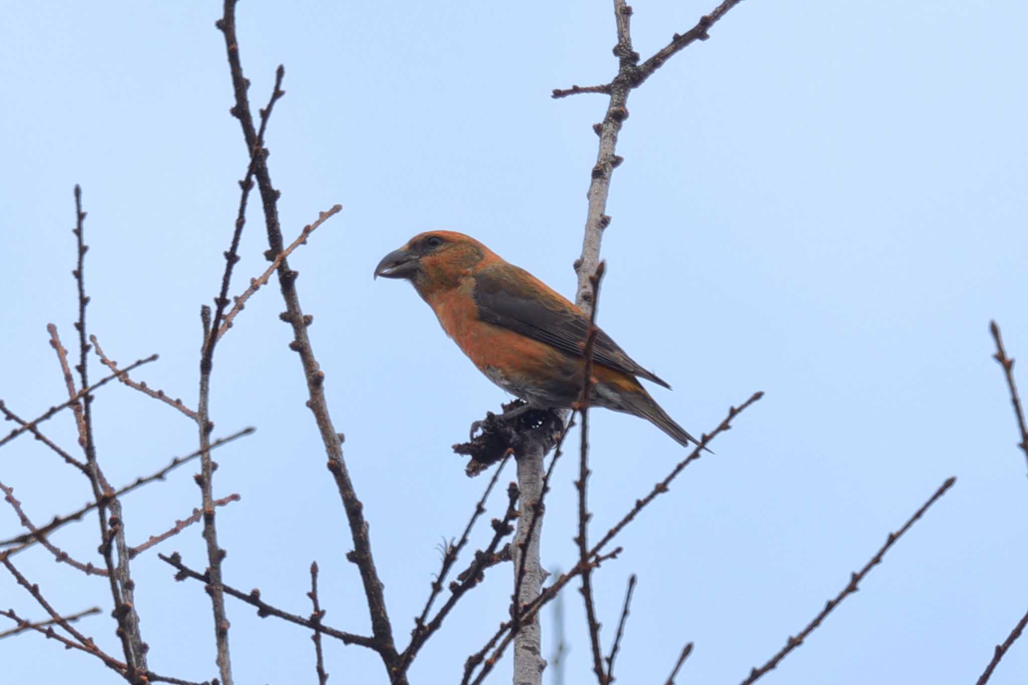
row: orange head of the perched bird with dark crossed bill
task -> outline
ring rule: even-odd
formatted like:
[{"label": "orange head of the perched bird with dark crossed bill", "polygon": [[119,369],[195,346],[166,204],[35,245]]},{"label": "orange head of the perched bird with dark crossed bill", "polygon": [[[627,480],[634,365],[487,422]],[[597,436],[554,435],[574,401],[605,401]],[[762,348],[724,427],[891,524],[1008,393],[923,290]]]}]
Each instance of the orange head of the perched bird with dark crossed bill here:
[{"label": "orange head of the perched bird with dark crossed bill", "polygon": [[419,233],[375,267],[375,278],[405,278],[423,296],[437,289],[455,288],[484,259],[494,257],[475,238],[454,231]]}]

